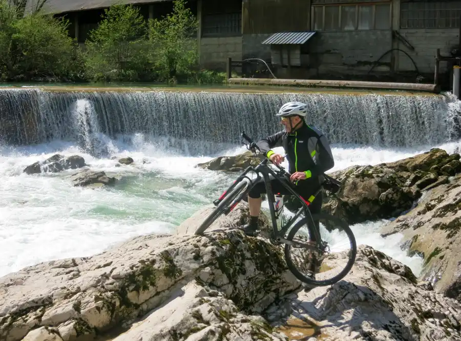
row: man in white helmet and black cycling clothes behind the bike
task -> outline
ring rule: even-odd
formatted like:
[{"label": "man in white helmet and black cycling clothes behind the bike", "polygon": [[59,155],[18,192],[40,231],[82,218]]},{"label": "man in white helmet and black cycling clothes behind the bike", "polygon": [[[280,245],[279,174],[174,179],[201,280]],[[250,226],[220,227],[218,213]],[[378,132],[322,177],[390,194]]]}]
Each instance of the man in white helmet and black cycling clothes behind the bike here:
[{"label": "man in white helmet and black cycling clothes behind the bike", "polygon": [[[271,148],[283,147],[288,159],[290,180],[295,184],[295,191],[304,199],[308,199],[320,186],[320,178],[327,170],[333,168],[334,159],[327,138],[319,129],[306,124],[307,105],[300,102],[284,104],[276,117],[281,118],[284,131],[268,136],[257,142],[261,152],[276,165],[284,161],[284,157]],[[289,194],[279,180],[270,182],[274,193]],[[258,230],[258,216],[261,211],[261,193],[265,193],[264,182],[256,184],[248,193],[249,221],[243,227],[247,235],[255,235]],[[320,213],[322,208],[322,192],[309,207],[312,214]]]}]

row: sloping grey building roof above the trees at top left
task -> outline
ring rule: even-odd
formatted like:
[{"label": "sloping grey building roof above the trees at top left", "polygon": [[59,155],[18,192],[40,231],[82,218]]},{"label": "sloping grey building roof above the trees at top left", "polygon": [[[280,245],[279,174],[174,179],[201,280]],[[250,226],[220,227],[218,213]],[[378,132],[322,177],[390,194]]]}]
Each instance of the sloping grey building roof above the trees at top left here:
[{"label": "sloping grey building roof above the trees at top left", "polygon": [[[35,10],[37,2],[41,0],[27,0],[26,14]],[[149,4],[171,0],[47,0],[43,8],[43,13],[58,14],[88,9],[107,8],[117,3],[123,4]]]}]

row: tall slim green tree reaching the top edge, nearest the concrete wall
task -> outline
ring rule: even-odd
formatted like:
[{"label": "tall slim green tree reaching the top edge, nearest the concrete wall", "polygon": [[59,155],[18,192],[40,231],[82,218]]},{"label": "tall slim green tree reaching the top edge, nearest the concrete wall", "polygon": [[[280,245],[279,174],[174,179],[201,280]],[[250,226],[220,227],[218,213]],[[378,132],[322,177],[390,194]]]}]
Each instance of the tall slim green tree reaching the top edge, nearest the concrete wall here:
[{"label": "tall slim green tree reaching the top edge, nearest the concrete wall", "polygon": [[171,14],[149,22],[151,57],[163,81],[190,74],[197,64],[198,21],[185,4],[175,0]]}]

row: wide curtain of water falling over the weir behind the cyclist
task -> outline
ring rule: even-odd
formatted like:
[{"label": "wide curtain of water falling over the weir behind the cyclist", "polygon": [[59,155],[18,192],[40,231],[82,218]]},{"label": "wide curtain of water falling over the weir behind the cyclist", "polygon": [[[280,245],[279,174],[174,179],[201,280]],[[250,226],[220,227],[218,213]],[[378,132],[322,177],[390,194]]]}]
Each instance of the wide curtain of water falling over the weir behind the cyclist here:
[{"label": "wide curtain of water falling over the weir behind the cyclist", "polygon": [[93,150],[97,136],[143,134],[191,154],[206,153],[239,145],[242,130],[255,139],[278,131],[274,115],[288,101],[307,103],[308,124],[331,143],[413,147],[459,138],[454,99],[443,95],[35,88],[0,90],[0,138],[20,145],[64,139]]}]

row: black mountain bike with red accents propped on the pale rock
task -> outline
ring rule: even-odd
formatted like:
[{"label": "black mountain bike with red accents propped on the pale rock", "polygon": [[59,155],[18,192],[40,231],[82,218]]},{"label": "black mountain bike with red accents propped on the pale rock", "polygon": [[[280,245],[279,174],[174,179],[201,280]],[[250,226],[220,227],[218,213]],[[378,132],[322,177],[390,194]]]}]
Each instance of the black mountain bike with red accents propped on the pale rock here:
[{"label": "black mountain bike with red accents propped on the pale rock", "polygon": [[[257,156],[257,150],[260,150],[256,143],[254,143],[245,132],[242,132],[241,135],[248,142],[248,144],[243,143],[246,145],[246,148]],[[248,192],[260,181],[262,175],[269,203],[272,230],[267,232],[261,230],[259,235],[269,239],[270,243],[274,245],[285,244],[284,253],[288,269],[301,280],[301,282],[317,287],[337,283],[347,275],[355,262],[355,256],[357,255],[355,237],[344,219],[329,214],[311,214],[309,206],[322,190],[333,194],[337,193],[342,186],[341,182],[327,174],[322,174],[321,185],[315,191],[315,194],[311,195],[306,200],[295,191],[294,184],[290,181],[290,174],[280,165],[271,163],[276,169],[270,167],[268,162],[269,159],[264,156],[261,163],[256,167],[247,167],[237,177],[234,183],[227,188],[218,199],[214,200],[213,203],[216,208],[205,218],[195,234],[203,234],[219,216],[222,214],[227,215],[231,212],[242,199],[246,198]],[[256,178],[250,178],[248,176],[249,172],[256,173]],[[301,208],[299,208],[299,210],[288,220],[285,219],[283,214],[276,215],[276,208],[274,205],[275,195],[270,185],[271,179],[278,179],[290,195],[294,196],[301,204]],[[279,230],[277,219],[280,216],[282,216],[282,224]],[[345,239],[348,240],[350,251],[345,253],[331,253],[330,243],[323,240],[320,235],[322,230],[320,226],[321,222],[323,222],[323,230],[329,234],[327,237],[330,239],[341,235],[345,236]],[[298,235],[298,233],[300,235]],[[335,245],[336,244],[337,243],[335,243]],[[294,261],[293,258],[297,256],[300,256],[300,262]],[[332,266],[337,265],[340,260],[343,260],[345,257],[348,257],[348,260],[345,262],[343,270],[333,275],[331,278],[323,280],[318,279],[319,275],[331,275],[334,269]],[[325,260],[326,262],[323,264]],[[315,268],[313,271],[312,264],[314,264]],[[303,273],[303,271],[306,272]]]}]

